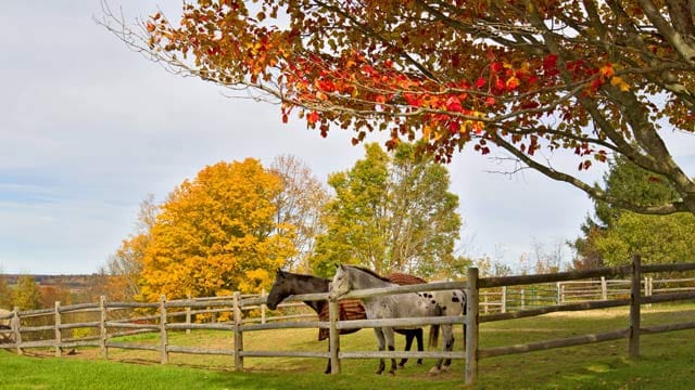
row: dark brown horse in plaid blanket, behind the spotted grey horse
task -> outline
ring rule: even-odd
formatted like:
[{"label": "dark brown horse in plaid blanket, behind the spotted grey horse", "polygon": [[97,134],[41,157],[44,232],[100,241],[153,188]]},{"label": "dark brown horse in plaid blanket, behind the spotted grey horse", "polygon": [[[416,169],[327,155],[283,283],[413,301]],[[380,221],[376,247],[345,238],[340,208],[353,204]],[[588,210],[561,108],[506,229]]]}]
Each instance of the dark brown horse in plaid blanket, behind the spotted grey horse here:
[{"label": "dark brown horse in plaid blanket, behind the spotted grey horse", "polygon": [[[387,276],[392,283],[400,285],[412,285],[427,283],[427,281],[417,276],[392,273]],[[270,310],[277,309],[278,304],[287,297],[301,294],[315,294],[315,292],[328,292],[328,284],[330,280],[313,276],[302,275],[278,270],[275,276],[275,283],[268,298],[266,306]],[[328,320],[328,301],[304,301],[309,308],[314,309],[320,321]],[[339,302],[339,318],[340,320],[365,320],[365,308],[358,299],[345,299]],[[356,329],[341,329],[340,334],[351,334],[359,330]],[[409,351],[413,346],[413,339],[417,340],[417,350],[422,351],[422,328],[415,329],[394,329],[395,333],[405,335],[405,350]],[[318,330],[318,339],[324,340],[328,338],[328,329]],[[399,365],[403,367],[407,362],[407,359],[401,360]],[[422,364],[422,360],[418,359],[418,364]],[[326,374],[330,374],[330,361],[326,366]]]}]

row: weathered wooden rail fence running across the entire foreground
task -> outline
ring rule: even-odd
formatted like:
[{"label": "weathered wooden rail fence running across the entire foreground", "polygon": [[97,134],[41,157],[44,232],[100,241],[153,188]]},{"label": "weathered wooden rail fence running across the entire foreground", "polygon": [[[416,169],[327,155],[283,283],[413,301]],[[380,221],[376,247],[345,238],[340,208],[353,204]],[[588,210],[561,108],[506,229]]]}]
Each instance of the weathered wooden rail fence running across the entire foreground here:
[{"label": "weathered wooden rail fence running across the entire foreground", "polygon": [[[552,348],[563,348],[571,346],[580,346],[599,341],[615,340],[626,338],[628,341],[628,351],[630,358],[639,355],[640,335],[656,334],[671,330],[681,330],[695,328],[695,322],[667,324],[659,326],[641,327],[640,325],[640,308],[641,304],[649,304],[657,302],[671,302],[686,299],[694,299],[695,291],[683,290],[665,290],[658,295],[648,295],[650,290],[649,283],[644,283],[643,274],[658,272],[684,272],[695,270],[695,263],[664,264],[664,265],[641,265],[640,258],[635,257],[632,264],[617,268],[595,269],[586,271],[561,272],[556,274],[539,274],[523,276],[507,277],[478,277],[478,269],[468,270],[468,282],[445,282],[430,283],[424,285],[396,286],[379,289],[365,289],[352,291],[344,298],[366,298],[378,295],[405,294],[418,291],[432,291],[442,289],[465,289],[468,301],[468,313],[466,316],[443,316],[443,317],[425,317],[425,318],[391,318],[391,320],[361,320],[361,321],[339,321],[338,303],[329,302],[330,320],[328,322],[319,322],[315,315],[292,314],[285,316],[266,316],[265,313],[265,296],[242,296],[236,292],[231,297],[223,297],[215,299],[186,299],[167,301],[162,298],[155,303],[135,303],[135,302],[108,302],[101,298],[99,303],[85,303],[61,307],[60,302],[55,303],[52,309],[39,311],[17,311],[15,310],[4,318],[11,318],[11,329],[0,330],[11,334],[13,342],[0,344],[0,348],[14,348],[18,353],[26,348],[54,348],[55,354],[61,355],[65,348],[94,346],[101,349],[103,358],[108,359],[109,349],[140,349],[159,351],[161,362],[168,362],[169,353],[197,353],[197,354],[222,354],[229,355],[233,359],[235,368],[243,369],[243,359],[245,356],[265,358],[265,356],[299,356],[299,358],[329,358],[333,374],[340,373],[340,362],[345,359],[465,359],[465,378],[467,384],[475,384],[478,378],[478,362],[481,359],[493,356],[526,353],[531,351],[540,351]],[[566,283],[570,281],[586,281],[592,278],[615,277],[629,275],[629,294],[623,297],[620,295],[603,294],[601,300],[570,302],[559,300],[548,302],[547,306],[532,307],[522,306],[517,311],[500,311],[490,314],[481,314],[482,290],[491,290],[502,287],[530,286],[535,284],[548,283]],[[607,282],[606,282],[607,283]],[[642,286],[645,295],[642,295]],[[526,291],[526,290],[525,290]],[[293,296],[286,302],[326,300],[327,294],[312,294]],[[296,306],[296,303],[294,303]],[[301,303],[300,303],[301,306]],[[516,344],[507,347],[495,347],[488,349],[479,348],[479,327],[481,323],[513,320],[520,317],[529,317],[552,312],[561,311],[580,311],[592,309],[605,309],[615,307],[630,307],[630,326],[624,329],[615,329],[606,333],[590,334],[576,336],[571,338],[547,340],[540,342],[531,342],[526,344]],[[124,318],[117,313],[123,310],[148,311],[148,315],[140,315],[137,318]],[[243,320],[242,312],[258,311],[260,317]],[[66,313],[92,313],[96,317],[92,321],[67,323],[63,321]],[[229,315],[230,321],[211,322],[211,323],[193,323],[193,315]],[[52,316],[53,323],[42,326],[25,326],[23,321],[33,316]],[[175,321],[175,318],[185,317],[185,320]],[[0,320],[3,320],[0,316]],[[292,320],[292,321],[287,321]],[[424,352],[405,352],[405,351],[340,351],[339,330],[348,328],[365,328],[381,326],[425,326],[432,324],[457,324],[468,327],[466,335],[465,349],[458,351],[424,351]],[[83,338],[63,338],[63,332],[76,328],[97,329],[97,336]],[[329,351],[252,351],[244,350],[243,335],[248,332],[263,332],[266,329],[282,328],[328,328],[330,333]],[[233,333],[233,347],[231,349],[205,349],[194,347],[172,346],[168,342],[168,333],[172,330],[191,329],[223,329]],[[52,333],[53,337],[47,340],[23,341],[23,335],[27,333]],[[142,344],[136,342],[117,341],[119,336],[129,335],[139,332],[156,332],[160,334],[159,344]]]}]

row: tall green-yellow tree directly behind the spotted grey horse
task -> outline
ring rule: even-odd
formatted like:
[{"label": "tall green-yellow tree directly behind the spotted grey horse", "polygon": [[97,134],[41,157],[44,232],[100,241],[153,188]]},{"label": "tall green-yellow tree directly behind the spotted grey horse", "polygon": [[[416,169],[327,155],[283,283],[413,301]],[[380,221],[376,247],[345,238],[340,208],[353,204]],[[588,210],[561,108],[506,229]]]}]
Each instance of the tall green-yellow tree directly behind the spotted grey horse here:
[{"label": "tall green-yellow tree directly behind the spotted grey horse", "polygon": [[460,218],[446,169],[416,160],[405,143],[391,155],[377,144],[365,151],[351,170],[329,178],[336,198],[327,206],[327,232],[317,238],[314,271],[330,275],[336,263],[422,276],[456,269]]}]

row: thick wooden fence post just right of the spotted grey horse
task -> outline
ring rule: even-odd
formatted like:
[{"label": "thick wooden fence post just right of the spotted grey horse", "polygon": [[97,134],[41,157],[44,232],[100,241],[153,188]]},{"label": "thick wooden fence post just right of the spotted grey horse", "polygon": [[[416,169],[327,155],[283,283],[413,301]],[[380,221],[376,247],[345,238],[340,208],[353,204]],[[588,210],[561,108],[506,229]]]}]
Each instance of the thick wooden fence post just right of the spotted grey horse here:
[{"label": "thick wooden fence post just right of the spotted grey horse", "polygon": [[[478,381],[478,315],[480,309],[477,268],[468,269],[466,296],[466,385],[475,386]],[[503,298],[506,299],[506,286],[503,290]]]}]

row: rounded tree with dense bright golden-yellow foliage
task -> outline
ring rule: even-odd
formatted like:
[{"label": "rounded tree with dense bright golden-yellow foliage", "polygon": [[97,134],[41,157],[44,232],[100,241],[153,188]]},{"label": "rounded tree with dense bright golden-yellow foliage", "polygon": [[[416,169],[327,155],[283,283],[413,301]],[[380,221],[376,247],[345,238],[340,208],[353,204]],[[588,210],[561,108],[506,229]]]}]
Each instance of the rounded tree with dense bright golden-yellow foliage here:
[{"label": "rounded tree with dense bright golden-yellow foliage", "polygon": [[141,298],[260,292],[294,253],[292,229],[278,226],[280,179],[256,159],[218,162],[169,194],[151,231]]}]

